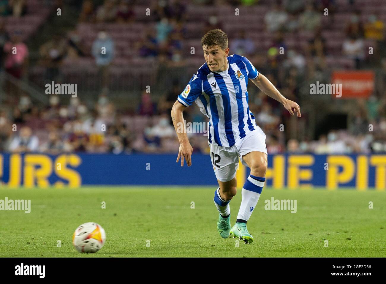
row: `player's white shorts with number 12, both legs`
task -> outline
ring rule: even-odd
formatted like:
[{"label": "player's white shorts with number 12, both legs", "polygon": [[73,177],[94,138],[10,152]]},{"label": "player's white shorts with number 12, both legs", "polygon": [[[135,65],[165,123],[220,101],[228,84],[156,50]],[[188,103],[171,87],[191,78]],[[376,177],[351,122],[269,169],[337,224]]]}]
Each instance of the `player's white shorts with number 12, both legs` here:
[{"label": "player's white shorts with number 12, both legs", "polygon": [[210,160],[216,177],[222,182],[234,179],[239,166],[239,158],[244,166],[248,166],[242,156],[259,151],[267,154],[265,144],[266,135],[257,126],[255,130],[248,133],[244,138],[239,139],[232,147],[220,147],[208,142],[210,147]]}]

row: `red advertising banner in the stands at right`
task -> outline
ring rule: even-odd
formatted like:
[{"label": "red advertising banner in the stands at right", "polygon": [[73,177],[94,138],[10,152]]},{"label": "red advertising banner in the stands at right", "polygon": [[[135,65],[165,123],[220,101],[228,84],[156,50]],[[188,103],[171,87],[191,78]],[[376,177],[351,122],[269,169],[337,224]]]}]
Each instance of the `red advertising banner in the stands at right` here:
[{"label": "red advertising banner in the stands at right", "polygon": [[374,90],[374,73],[372,71],[334,71],[331,75],[333,84],[339,85],[342,98],[367,98]]}]

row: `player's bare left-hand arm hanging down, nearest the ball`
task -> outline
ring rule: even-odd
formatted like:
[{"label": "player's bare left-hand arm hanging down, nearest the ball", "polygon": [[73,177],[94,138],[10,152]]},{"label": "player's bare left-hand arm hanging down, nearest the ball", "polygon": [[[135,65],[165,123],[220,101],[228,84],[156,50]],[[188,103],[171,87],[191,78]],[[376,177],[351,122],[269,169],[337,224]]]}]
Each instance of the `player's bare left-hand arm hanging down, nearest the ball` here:
[{"label": "player's bare left-hand arm hanging down, nearest the ball", "polygon": [[179,141],[179,150],[176,162],[178,162],[179,157],[181,157],[181,167],[184,166],[184,159],[186,160],[188,167],[190,167],[193,148],[189,143],[188,136],[186,135],[184,117],[182,115],[185,109],[186,106],[176,100],[171,109],[171,119],[173,121],[174,129],[176,129]]}]

